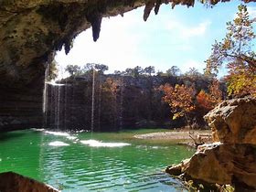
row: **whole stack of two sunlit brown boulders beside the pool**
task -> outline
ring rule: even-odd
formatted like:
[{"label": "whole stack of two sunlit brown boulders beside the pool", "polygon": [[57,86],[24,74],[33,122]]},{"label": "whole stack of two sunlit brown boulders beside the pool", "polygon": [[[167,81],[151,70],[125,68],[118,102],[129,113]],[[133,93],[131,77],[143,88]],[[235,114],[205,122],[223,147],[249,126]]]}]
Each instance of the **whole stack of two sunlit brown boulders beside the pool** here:
[{"label": "whole stack of two sunlit brown boulders beside the pool", "polygon": [[230,184],[237,191],[256,190],[256,100],[223,101],[205,116],[214,144],[204,144],[197,153],[166,172],[206,185]]}]

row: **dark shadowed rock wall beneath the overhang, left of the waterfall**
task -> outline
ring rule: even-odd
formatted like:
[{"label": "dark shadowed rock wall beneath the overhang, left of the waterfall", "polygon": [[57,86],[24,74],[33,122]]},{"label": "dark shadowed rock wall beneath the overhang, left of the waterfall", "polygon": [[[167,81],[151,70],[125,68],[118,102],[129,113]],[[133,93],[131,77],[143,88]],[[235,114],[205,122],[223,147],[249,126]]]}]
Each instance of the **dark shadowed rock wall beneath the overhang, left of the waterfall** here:
[{"label": "dark shadowed rock wall beneath the overhang, left of the waterfall", "polygon": [[0,132],[41,127],[41,87],[0,88]]}]

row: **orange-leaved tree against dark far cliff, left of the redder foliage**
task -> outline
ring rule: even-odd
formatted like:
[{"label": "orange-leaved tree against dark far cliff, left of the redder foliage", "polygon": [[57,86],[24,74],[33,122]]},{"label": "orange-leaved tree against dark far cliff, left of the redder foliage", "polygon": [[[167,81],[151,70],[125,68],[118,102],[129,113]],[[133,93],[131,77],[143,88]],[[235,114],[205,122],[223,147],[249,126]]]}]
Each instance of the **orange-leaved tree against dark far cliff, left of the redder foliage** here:
[{"label": "orange-leaved tree against dark far cliff, left of the redder foliage", "polygon": [[178,85],[172,87],[166,83],[164,86],[160,86],[160,90],[164,91],[163,101],[167,102],[173,112],[173,119],[185,116],[187,124],[190,126],[190,120],[188,113],[195,109],[194,87],[187,87],[186,85]]}]

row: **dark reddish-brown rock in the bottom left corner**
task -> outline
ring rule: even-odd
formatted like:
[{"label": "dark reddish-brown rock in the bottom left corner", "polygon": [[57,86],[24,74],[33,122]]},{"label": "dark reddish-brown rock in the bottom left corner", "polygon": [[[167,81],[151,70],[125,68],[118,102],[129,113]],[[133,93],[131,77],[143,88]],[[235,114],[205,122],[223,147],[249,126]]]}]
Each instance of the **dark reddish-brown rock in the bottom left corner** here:
[{"label": "dark reddish-brown rock in the bottom left corner", "polygon": [[1,192],[59,192],[59,190],[40,183],[32,178],[18,175],[14,172],[0,174]]}]

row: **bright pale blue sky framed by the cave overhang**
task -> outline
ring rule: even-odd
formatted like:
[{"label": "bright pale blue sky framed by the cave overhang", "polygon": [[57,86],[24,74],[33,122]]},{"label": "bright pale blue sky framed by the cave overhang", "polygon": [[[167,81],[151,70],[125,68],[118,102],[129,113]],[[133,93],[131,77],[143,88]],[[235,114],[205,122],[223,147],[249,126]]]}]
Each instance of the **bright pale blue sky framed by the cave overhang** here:
[{"label": "bright pale blue sky framed by the cave overhang", "polygon": [[[144,22],[144,7],[124,16],[104,18],[101,35],[93,42],[91,29],[74,41],[66,56],[59,51],[56,60],[60,73],[68,64],[101,63],[108,72],[135,66],[155,66],[156,71],[177,66],[182,72],[195,67],[205,68],[211,45],[226,34],[226,22],[234,18],[238,1],[207,8],[197,2],[195,7],[162,5],[157,16],[152,12]],[[256,5],[247,4],[251,17],[256,17]]]}]

